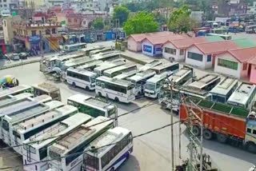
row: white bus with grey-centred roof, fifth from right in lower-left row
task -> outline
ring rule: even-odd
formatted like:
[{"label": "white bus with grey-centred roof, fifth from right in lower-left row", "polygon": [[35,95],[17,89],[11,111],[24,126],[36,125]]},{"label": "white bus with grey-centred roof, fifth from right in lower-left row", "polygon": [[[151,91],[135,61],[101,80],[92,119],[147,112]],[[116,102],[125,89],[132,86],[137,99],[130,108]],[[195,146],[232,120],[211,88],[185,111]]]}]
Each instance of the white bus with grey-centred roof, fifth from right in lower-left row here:
[{"label": "white bus with grey-centred roof, fifth from right in lower-left row", "polygon": [[12,142],[17,145],[17,139],[11,139],[11,134],[14,129],[14,125],[25,121],[31,117],[37,117],[43,113],[46,113],[52,109],[58,109],[62,107],[64,104],[61,101],[50,101],[46,104],[38,103],[36,105],[30,106],[29,108],[19,110],[16,113],[11,113],[2,117],[2,141],[6,143],[6,145],[11,145]]}]

